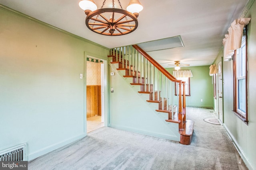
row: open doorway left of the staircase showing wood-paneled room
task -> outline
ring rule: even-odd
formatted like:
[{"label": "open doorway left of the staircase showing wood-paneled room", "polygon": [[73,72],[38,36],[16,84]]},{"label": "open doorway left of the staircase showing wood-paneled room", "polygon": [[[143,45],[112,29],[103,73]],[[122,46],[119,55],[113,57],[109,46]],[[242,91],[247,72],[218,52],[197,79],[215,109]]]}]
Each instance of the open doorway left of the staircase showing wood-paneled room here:
[{"label": "open doorway left of the staircase showing wood-paneled room", "polygon": [[104,61],[86,59],[87,133],[104,126]]}]

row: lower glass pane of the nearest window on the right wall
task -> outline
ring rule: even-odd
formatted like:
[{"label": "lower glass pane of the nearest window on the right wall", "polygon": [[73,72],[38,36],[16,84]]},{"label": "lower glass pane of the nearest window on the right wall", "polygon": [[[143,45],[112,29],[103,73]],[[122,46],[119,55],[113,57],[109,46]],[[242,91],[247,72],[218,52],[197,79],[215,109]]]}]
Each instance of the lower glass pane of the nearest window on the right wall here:
[{"label": "lower glass pane of the nearest window on the right wall", "polygon": [[246,113],[245,79],[238,80],[238,109]]}]

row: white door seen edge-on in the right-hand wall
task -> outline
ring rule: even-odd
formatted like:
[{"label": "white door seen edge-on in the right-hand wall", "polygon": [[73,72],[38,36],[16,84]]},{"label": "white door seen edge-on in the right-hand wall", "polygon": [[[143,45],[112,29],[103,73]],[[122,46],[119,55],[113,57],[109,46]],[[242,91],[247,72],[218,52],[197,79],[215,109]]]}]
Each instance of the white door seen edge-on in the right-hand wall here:
[{"label": "white door seen edge-on in the right-hand wall", "polygon": [[222,106],[222,62],[218,63],[218,111],[219,119],[223,123],[223,106]]}]

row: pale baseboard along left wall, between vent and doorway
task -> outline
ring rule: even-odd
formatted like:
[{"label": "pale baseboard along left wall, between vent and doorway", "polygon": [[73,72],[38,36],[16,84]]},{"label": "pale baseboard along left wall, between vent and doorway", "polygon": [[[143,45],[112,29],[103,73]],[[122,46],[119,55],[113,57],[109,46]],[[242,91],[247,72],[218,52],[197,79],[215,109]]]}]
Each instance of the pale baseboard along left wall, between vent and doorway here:
[{"label": "pale baseboard along left wall, between vent and doorway", "polygon": [[82,138],[85,137],[85,136],[86,136],[86,133],[83,133],[83,134],[81,134],[81,135],[78,135],[78,136],[76,136],[76,137],[67,139],[67,140],[62,141],[62,142],[60,142],[60,143],[56,143],[56,144],[51,145],[51,146],[49,146],[49,147],[40,149],[40,150],[38,150],[38,151],[36,151],[36,152],[34,152],[34,153],[31,153],[31,154],[26,155],[26,160],[30,161],[30,160],[33,160],[33,159],[35,159],[35,158],[38,158],[39,156],[42,156],[42,155],[44,155],[44,154],[46,154],[46,153],[48,153],[48,152],[51,152],[51,151],[53,151],[53,150],[55,150],[55,149],[58,149],[58,148],[60,148],[60,147],[65,146],[65,145],[71,144],[71,143],[73,143],[74,141],[77,141],[77,140],[79,140],[79,139],[82,139]]}]

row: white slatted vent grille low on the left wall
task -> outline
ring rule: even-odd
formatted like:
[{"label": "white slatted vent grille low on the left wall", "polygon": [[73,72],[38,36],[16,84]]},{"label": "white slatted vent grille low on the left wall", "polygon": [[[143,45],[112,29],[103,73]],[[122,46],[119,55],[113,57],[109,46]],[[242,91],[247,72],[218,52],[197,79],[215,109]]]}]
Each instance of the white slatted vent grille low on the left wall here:
[{"label": "white slatted vent grille low on the left wall", "polygon": [[26,160],[26,144],[0,151],[0,161],[25,161]]}]

